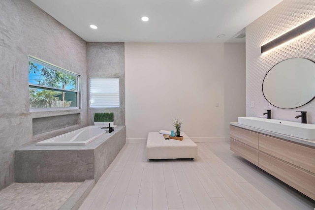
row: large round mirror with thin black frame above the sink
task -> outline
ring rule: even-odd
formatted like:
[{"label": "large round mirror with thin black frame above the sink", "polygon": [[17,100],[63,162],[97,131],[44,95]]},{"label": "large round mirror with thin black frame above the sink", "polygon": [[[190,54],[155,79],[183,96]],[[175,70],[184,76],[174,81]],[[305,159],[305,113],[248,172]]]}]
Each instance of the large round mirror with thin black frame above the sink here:
[{"label": "large round mirror with thin black frame above the sink", "polygon": [[272,67],[262,83],[262,92],[273,106],[292,109],[315,97],[315,63],[293,58]]}]

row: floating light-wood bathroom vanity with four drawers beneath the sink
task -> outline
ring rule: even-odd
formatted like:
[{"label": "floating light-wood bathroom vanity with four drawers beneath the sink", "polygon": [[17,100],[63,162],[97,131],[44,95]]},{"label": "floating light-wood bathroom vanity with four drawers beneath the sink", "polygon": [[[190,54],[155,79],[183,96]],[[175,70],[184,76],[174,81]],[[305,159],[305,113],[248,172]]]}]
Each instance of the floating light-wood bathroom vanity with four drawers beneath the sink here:
[{"label": "floating light-wood bathroom vanity with four drawers beneath the sink", "polygon": [[315,200],[315,140],[230,122],[230,150]]}]

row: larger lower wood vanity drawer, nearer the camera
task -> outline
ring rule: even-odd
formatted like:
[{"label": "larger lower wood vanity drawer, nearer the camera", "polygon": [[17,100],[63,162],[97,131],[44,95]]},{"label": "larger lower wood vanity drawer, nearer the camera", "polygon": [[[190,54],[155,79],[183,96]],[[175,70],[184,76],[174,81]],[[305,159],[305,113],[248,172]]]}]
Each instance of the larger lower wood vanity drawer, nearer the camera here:
[{"label": "larger lower wood vanity drawer, nearer the camera", "polygon": [[291,164],[259,152],[259,167],[303,194],[315,199],[315,176]]}]

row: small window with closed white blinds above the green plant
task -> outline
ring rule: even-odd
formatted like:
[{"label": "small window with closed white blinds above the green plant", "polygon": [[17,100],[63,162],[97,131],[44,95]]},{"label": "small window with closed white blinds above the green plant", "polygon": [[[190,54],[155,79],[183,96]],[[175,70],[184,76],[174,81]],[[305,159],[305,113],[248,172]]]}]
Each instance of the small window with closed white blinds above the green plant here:
[{"label": "small window with closed white blinds above the green plant", "polygon": [[90,108],[119,106],[119,78],[90,78]]}]

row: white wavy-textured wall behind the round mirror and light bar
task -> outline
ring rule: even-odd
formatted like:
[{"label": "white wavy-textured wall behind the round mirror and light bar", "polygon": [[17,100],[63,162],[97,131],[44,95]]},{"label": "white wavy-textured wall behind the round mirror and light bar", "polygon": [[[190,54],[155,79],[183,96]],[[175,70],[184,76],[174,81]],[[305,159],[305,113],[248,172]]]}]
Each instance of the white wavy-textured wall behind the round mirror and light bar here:
[{"label": "white wavy-textured wall behind the round mirror and light bar", "polygon": [[[260,117],[265,109],[272,118],[300,121],[295,111],[307,111],[308,122],[315,123],[315,100],[295,109],[277,108],[264,98],[262,82],[268,70],[282,60],[306,58],[315,61],[315,30],[264,54],[260,46],[315,16],[315,0],[284,0],[246,27],[246,115]],[[315,91],[315,90],[309,90]],[[251,102],[254,101],[254,107]]]}]

